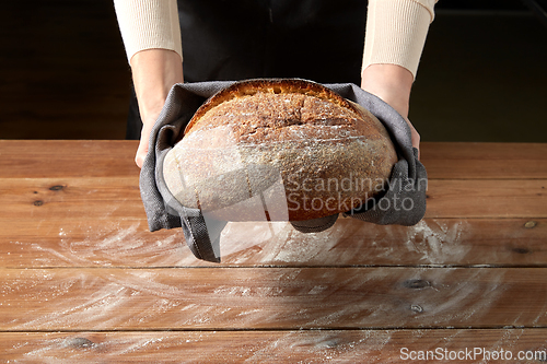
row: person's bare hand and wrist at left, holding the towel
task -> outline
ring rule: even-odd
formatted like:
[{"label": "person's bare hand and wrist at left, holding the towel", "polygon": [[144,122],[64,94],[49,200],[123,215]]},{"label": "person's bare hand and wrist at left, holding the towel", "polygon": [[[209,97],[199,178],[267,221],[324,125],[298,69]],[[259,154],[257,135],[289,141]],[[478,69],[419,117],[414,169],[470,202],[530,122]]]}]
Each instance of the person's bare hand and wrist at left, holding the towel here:
[{"label": "person's bare hand and wrist at left, holding the towel", "polygon": [[139,102],[142,130],[135,163],[142,167],[149,149],[150,132],[175,83],[183,82],[183,60],[167,49],[147,49],[131,57],[135,93]]}]

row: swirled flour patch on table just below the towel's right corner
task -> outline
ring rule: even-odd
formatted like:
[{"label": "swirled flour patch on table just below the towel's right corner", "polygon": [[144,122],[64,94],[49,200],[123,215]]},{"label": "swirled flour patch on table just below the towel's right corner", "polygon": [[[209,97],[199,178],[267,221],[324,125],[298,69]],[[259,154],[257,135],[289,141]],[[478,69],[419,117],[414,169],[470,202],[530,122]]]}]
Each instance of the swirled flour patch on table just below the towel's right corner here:
[{"label": "swirled flour patch on table just below the towel's right corner", "polygon": [[422,220],[408,227],[405,245],[408,250],[421,255],[420,260],[424,263],[462,262],[470,250],[470,245],[463,244],[469,236],[470,228],[470,224],[465,220],[432,220],[429,225]]}]

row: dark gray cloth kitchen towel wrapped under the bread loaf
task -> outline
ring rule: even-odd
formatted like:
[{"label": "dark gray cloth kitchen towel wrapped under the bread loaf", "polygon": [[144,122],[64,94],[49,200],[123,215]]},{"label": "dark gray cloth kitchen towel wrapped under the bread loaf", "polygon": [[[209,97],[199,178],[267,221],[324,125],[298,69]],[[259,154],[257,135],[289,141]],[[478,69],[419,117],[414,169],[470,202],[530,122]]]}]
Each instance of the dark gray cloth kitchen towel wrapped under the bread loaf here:
[{"label": "dark gray cloth kitchen towel wrapped under the bread loaf", "polygon": [[[151,232],[182,227],[194,255],[220,261],[220,234],[225,222],[203,215],[198,209],[183,207],[168,191],[163,179],[163,160],[177,137],[207,98],[230,86],[233,81],[181,83],[173,86],[150,134],[150,148],[140,174],[140,191]],[[427,173],[412,150],[410,128],[405,119],[379,97],[351,83],[325,84],[374,114],[386,127],[399,161],[393,168],[388,188],[375,200],[344,213],[375,224],[414,225],[426,213]],[[338,214],[316,220],[291,222],[295,230],[316,233],[330,227]]]}]

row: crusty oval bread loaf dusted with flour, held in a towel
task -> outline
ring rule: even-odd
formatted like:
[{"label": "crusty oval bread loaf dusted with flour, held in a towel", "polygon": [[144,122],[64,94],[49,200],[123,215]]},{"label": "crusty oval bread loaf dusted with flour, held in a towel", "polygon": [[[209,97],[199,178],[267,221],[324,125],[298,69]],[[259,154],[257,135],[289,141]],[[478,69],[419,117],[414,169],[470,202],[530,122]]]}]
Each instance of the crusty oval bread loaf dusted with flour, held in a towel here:
[{"label": "crusty oval bread loaf dusted with flour, held in a towel", "polygon": [[163,175],[187,208],[228,221],[301,221],[382,192],[394,145],[368,110],[317,83],[237,82],[208,99],[166,155]]}]

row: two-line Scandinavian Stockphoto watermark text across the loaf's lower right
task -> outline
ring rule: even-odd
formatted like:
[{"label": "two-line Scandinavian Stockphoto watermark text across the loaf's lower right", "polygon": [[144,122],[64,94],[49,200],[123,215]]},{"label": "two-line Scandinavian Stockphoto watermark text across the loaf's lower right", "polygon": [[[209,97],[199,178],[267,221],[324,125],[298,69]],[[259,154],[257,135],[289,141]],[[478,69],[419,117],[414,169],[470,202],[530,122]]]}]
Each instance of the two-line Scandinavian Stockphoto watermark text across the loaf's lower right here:
[{"label": "two-line Scandinavian Stockphoto watermark text across the loaf's lower right", "polygon": [[[428,180],[393,178],[359,178],[350,174],[341,178],[304,178],[296,180],[289,176],[286,185],[287,202],[290,211],[350,211],[372,200],[386,190],[407,192],[404,197],[393,193],[389,198],[377,200],[376,208],[382,211],[411,211],[415,201],[408,192],[427,190]],[[310,197],[321,195],[321,197]]]}]

